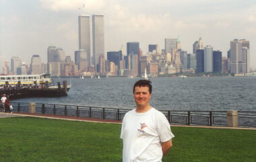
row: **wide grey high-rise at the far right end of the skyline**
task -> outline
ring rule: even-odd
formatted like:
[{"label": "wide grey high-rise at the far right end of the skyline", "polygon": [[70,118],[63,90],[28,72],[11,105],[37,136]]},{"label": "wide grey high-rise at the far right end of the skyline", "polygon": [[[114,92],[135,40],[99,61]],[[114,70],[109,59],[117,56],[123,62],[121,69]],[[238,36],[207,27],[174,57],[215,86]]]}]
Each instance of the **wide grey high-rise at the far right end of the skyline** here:
[{"label": "wide grey high-rise at the far right end of the skyline", "polygon": [[248,40],[230,42],[231,73],[245,74],[250,71],[250,46]]}]

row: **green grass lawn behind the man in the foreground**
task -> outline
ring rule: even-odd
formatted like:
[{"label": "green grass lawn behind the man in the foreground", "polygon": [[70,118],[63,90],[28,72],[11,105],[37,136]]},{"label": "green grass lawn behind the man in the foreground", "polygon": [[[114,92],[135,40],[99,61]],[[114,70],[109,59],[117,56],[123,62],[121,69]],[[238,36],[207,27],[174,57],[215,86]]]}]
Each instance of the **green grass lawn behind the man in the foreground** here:
[{"label": "green grass lawn behind the man in the foreground", "polygon": [[[0,119],[0,161],[122,161],[121,124]],[[256,131],[172,127],[163,161],[256,161]]]}]

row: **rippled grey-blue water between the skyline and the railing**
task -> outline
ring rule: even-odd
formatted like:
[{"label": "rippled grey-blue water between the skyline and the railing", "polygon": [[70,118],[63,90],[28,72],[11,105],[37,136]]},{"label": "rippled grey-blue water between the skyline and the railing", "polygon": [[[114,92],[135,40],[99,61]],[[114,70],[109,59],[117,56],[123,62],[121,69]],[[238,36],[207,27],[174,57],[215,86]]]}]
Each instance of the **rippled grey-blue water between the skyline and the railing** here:
[{"label": "rippled grey-blue water between the skyline and the railing", "polygon": [[[71,79],[67,97],[24,98],[13,102],[135,108],[132,91],[137,80]],[[158,110],[256,111],[256,77],[158,77],[151,81],[151,105]]]}]

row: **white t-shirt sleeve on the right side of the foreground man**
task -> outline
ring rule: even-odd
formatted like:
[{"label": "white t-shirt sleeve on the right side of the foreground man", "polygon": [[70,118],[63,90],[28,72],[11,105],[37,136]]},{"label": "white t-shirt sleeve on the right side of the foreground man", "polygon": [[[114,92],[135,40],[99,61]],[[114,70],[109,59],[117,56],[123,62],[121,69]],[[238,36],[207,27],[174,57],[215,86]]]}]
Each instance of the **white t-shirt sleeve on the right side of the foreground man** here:
[{"label": "white t-shirt sleeve on the right side of the foreground man", "polygon": [[166,116],[164,116],[162,112],[158,116],[157,124],[158,124],[158,135],[160,137],[161,143],[165,143],[166,141],[174,137],[174,134],[172,134],[172,131],[170,130],[170,124]]}]

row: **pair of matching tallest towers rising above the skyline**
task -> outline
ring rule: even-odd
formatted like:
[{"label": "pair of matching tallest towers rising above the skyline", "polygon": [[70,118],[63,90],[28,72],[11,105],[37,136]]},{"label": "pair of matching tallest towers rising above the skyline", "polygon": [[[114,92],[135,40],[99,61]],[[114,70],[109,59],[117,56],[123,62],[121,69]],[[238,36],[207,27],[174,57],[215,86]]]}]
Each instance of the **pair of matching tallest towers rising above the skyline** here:
[{"label": "pair of matching tallest towers rising above the skyline", "polygon": [[[98,71],[97,65],[99,57],[104,56],[104,15],[92,15],[92,59],[91,59],[91,30],[90,15],[79,15],[78,17],[78,37],[79,50],[85,50],[88,66],[94,65]],[[92,60],[92,61],[91,61]]]}]

